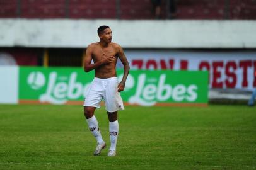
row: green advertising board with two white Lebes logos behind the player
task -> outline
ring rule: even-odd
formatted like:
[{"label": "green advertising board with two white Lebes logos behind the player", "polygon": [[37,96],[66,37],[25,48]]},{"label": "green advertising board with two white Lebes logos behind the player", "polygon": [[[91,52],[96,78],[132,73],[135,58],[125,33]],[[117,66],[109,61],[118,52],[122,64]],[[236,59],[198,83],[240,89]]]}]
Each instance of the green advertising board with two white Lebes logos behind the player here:
[{"label": "green advertising board with two white Lebes logos behind the player", "polygon": [[[36,68],[37,69],[37,68]],[[119,82],[122,72],[118,72]],[[207,72],[130,71],[121,93],[123,101],[141,106],[156,103],[207,103]],[[81,69],[21,68],[21,100],[52,104],[83,101],[93,80],[93,72]],[[206,76],[204,76],[206,75]],[[188,79],[189,77],[189,79]],[[202,81],[205,80],[205,81]]]}]

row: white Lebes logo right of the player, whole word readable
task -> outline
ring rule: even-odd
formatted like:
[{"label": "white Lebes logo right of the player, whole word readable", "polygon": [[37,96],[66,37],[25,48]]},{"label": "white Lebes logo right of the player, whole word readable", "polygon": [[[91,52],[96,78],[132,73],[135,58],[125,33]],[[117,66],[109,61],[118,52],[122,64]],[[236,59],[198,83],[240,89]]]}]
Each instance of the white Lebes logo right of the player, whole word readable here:
[{"label": "white Lebes logo right of the player, whole word readable", "polygon": [[[122,75],[119,77],[119,82]],[[136,87],[134,87],[136,86]],[[147,74],[139,74],[137,80],[129,74],[125,84],[125,91],[136,88],[136,93],[129,97],[128,101],[131,104],[142,106],[153,106],[158,101],[168,102],[170,99],[176,102],[186,100],[193,102],[197,99],[197,89],[195,84],[177,84],[172,86],[166,83],[166,74],[161,74],[160,77],[147,77]]]}]

